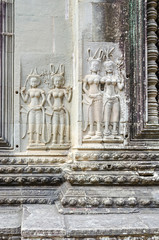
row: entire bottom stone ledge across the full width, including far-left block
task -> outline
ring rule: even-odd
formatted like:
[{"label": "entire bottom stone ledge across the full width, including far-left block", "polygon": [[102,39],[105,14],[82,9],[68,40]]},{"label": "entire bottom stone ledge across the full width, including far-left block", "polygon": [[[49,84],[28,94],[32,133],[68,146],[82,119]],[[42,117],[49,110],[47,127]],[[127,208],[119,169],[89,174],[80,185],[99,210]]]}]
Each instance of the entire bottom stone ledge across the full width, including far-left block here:
[{"label": "entire bottom stone ledge across the full width, including far-left block", "polygon": [[125,240],[136,237],[158,240],[158,219],[158,209],[131,214],[62,215],[55,205],[1,207],[0,234],[43,240],[117,237]]}]

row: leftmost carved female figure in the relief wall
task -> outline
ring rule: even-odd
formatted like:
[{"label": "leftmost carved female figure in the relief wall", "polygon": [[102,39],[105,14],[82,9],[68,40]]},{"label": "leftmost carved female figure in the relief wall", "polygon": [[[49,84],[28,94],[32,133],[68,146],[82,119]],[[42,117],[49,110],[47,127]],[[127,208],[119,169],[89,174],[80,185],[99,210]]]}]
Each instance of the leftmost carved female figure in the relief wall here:
[{"label": "leftmost carved female figure in the relief wall", "polygon": [[[26,89],[26,84],[29,81],[30,89]],[[36,69],[32,71],[25,83],[25,87],[21,89],[21,97],[25,103],[30,102],[27,106],[22,106],[21,112],[26,113],[26,133],[29,134],[29,144],[41,144],[43,139],[40,137],[42,135],[42,127],[44,127],[44,103],[45,103],[45,93],[42,89],[38,88],[40,85],[40,75],[38,75]],[[28,127],[28,130],[27,130]],[[36,135],[34,139],[34,135]]]}]

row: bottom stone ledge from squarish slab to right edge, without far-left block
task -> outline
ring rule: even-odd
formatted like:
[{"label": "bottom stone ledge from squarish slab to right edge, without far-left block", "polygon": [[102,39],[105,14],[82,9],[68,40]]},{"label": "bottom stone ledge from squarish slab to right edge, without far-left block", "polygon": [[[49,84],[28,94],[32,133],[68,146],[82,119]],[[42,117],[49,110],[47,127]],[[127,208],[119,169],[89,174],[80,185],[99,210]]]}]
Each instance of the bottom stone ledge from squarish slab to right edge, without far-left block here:
[{"label": "bottom stone ledge from squarish slab to right edge, without far-left block", "polygon": [[135,214],[60,215],[54,205],[25,205],[22,236],[159,235],[158,219],[159,211]]}]

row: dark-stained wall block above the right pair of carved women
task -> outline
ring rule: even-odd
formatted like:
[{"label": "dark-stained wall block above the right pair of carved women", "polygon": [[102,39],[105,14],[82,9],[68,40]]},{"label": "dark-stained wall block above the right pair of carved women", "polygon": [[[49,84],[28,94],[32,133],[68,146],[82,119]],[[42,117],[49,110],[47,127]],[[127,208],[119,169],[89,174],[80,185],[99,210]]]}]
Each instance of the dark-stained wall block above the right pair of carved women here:
[{"label": "dark-stained wall block above the right pair of carved women", "polygon": [[126,22],[127,5],[127,1],[124,0],[92,3],[93,41],[123,42],[128,25]]}]

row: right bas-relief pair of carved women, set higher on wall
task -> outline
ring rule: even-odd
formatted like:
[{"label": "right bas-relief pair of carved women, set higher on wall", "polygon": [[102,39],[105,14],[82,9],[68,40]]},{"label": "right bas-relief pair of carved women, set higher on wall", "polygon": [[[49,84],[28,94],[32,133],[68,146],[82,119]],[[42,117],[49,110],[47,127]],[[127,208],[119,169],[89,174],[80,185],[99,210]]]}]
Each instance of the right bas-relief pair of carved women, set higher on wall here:
[{"label": "right bas-relief pair of carved women, set higher on wall", "polygon": [[[121,140],[121,91],[124,89],[124,60],[112,60],[115,48],[97,49],[91,56],[88,49],[90,74],[83,79],[83,140]],[[102,89],[104,88],[104,89]],[[89,130],[88,130],[89,129]],[[102,136],[103,132],[103,136]]]}]

